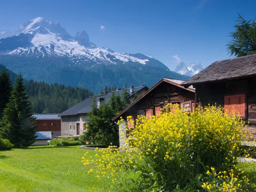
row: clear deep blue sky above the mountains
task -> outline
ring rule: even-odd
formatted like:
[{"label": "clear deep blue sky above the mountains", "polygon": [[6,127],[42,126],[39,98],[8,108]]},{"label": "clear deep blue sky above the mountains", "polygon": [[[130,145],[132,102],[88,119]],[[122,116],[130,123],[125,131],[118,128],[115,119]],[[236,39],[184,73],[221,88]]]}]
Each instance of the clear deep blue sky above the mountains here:
[{"label": "clear deep blue sky above the mountains", "polygon": [[0,3],[0,29],[14,32],[24,21],[44,17],[70,35],[85,30],[98,46],[151,55],[175,70],[174,55],[186,65],[230,58],[225,45],[238,12],[255,18],[256,1],[12,0]]}]

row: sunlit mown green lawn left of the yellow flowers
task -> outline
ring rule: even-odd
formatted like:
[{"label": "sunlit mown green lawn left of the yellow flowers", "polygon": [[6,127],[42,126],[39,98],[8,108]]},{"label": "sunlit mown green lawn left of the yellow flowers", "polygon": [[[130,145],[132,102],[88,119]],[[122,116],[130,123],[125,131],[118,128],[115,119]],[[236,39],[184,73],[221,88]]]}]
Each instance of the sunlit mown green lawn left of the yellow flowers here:
[{"label": "sunlit mown green lawn left of the yellow flowers", "polygon": [[[81,157],[87,151],[93,157],[96,154],[96,151],[80,146],[35,146],[0,151],[0,191],[108,191],[111,181],[97,180],[96,173],[88,175],[90,166],[81,163]],[[129,177],[129,174],[123,174]]]}]

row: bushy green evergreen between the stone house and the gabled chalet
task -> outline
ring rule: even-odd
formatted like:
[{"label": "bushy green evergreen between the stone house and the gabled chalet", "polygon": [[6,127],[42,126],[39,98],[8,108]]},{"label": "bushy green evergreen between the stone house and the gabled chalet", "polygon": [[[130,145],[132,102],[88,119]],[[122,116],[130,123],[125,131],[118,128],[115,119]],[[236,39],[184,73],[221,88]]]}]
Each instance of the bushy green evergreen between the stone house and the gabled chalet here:
[{"label": "bushy green evergreen between the stone house and the gabled chalet", "polygon": [[131,103],[129,96],[125,85],[121,96],[112,91],[109,102],[100,105],[99,108],[94,100],[86,122],[87,131],[84,133],[84,139],[97,145],[108,146],[112,143],[118,146],[118,126],[112,122],[112,118]]}]

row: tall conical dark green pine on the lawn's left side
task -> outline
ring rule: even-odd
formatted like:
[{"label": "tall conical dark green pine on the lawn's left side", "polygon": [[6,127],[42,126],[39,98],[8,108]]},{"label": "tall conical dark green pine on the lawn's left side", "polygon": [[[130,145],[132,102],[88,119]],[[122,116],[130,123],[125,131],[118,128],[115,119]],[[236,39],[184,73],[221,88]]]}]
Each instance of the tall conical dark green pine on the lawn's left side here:
[{"label": "tall conical dark green pine on the lawn's left side", "polygon": [[25,89],[20,74],[0,121],[0,137],[8,139],[15,147],[28,147],[36,138],[35,118],[32,117]]}]

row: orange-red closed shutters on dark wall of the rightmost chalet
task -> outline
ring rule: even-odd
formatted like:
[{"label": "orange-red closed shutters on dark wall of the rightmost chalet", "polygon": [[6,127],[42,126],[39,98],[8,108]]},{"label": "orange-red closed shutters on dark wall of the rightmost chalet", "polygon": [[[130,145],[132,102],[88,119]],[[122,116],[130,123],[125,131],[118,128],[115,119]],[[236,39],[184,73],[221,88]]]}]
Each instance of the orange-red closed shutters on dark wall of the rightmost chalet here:
[{"label": "orange-red closed shutters on dark wall of the rightmost chalet", "polygon": [[224,109],[230,116],[235,112],[236,116],[245,117],[245,94],[225,96]]}]

